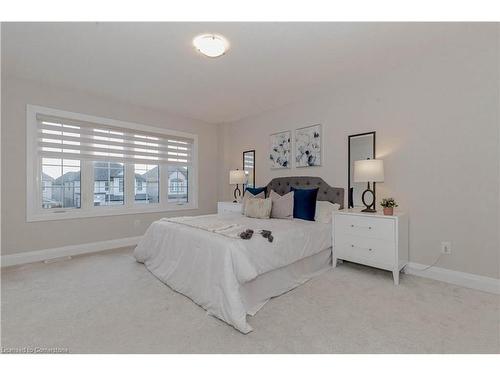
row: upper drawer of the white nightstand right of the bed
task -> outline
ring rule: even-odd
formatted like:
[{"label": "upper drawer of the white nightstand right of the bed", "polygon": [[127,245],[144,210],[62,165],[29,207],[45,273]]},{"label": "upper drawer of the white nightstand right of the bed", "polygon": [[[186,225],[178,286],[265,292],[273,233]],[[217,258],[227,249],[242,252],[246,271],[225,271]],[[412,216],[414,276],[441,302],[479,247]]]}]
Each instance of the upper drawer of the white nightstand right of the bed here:
[{"label": "upper drawer of the white nightstand right of the bed", "polygon": [[394,221],[356,215],[336,215],[335,235],[345,233],[358,237],[394,241]]}]

